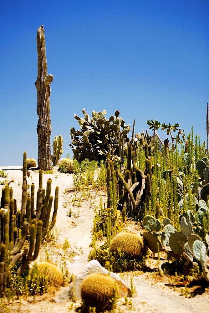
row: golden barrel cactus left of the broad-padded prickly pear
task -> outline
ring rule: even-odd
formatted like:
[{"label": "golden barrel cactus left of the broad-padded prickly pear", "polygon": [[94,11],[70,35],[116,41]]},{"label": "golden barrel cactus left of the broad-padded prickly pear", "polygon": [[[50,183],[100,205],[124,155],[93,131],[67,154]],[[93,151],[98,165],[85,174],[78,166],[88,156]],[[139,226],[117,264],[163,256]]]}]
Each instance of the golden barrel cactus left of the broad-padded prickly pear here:
[{"label": "golden barrel cactus left of the broad-padded prickly pear", "polygon": [[146,252],[143,237],[135,233],[118,233],[110,244],[110,252],[116,252],[119,248],[127,259],[139,259]]}]

